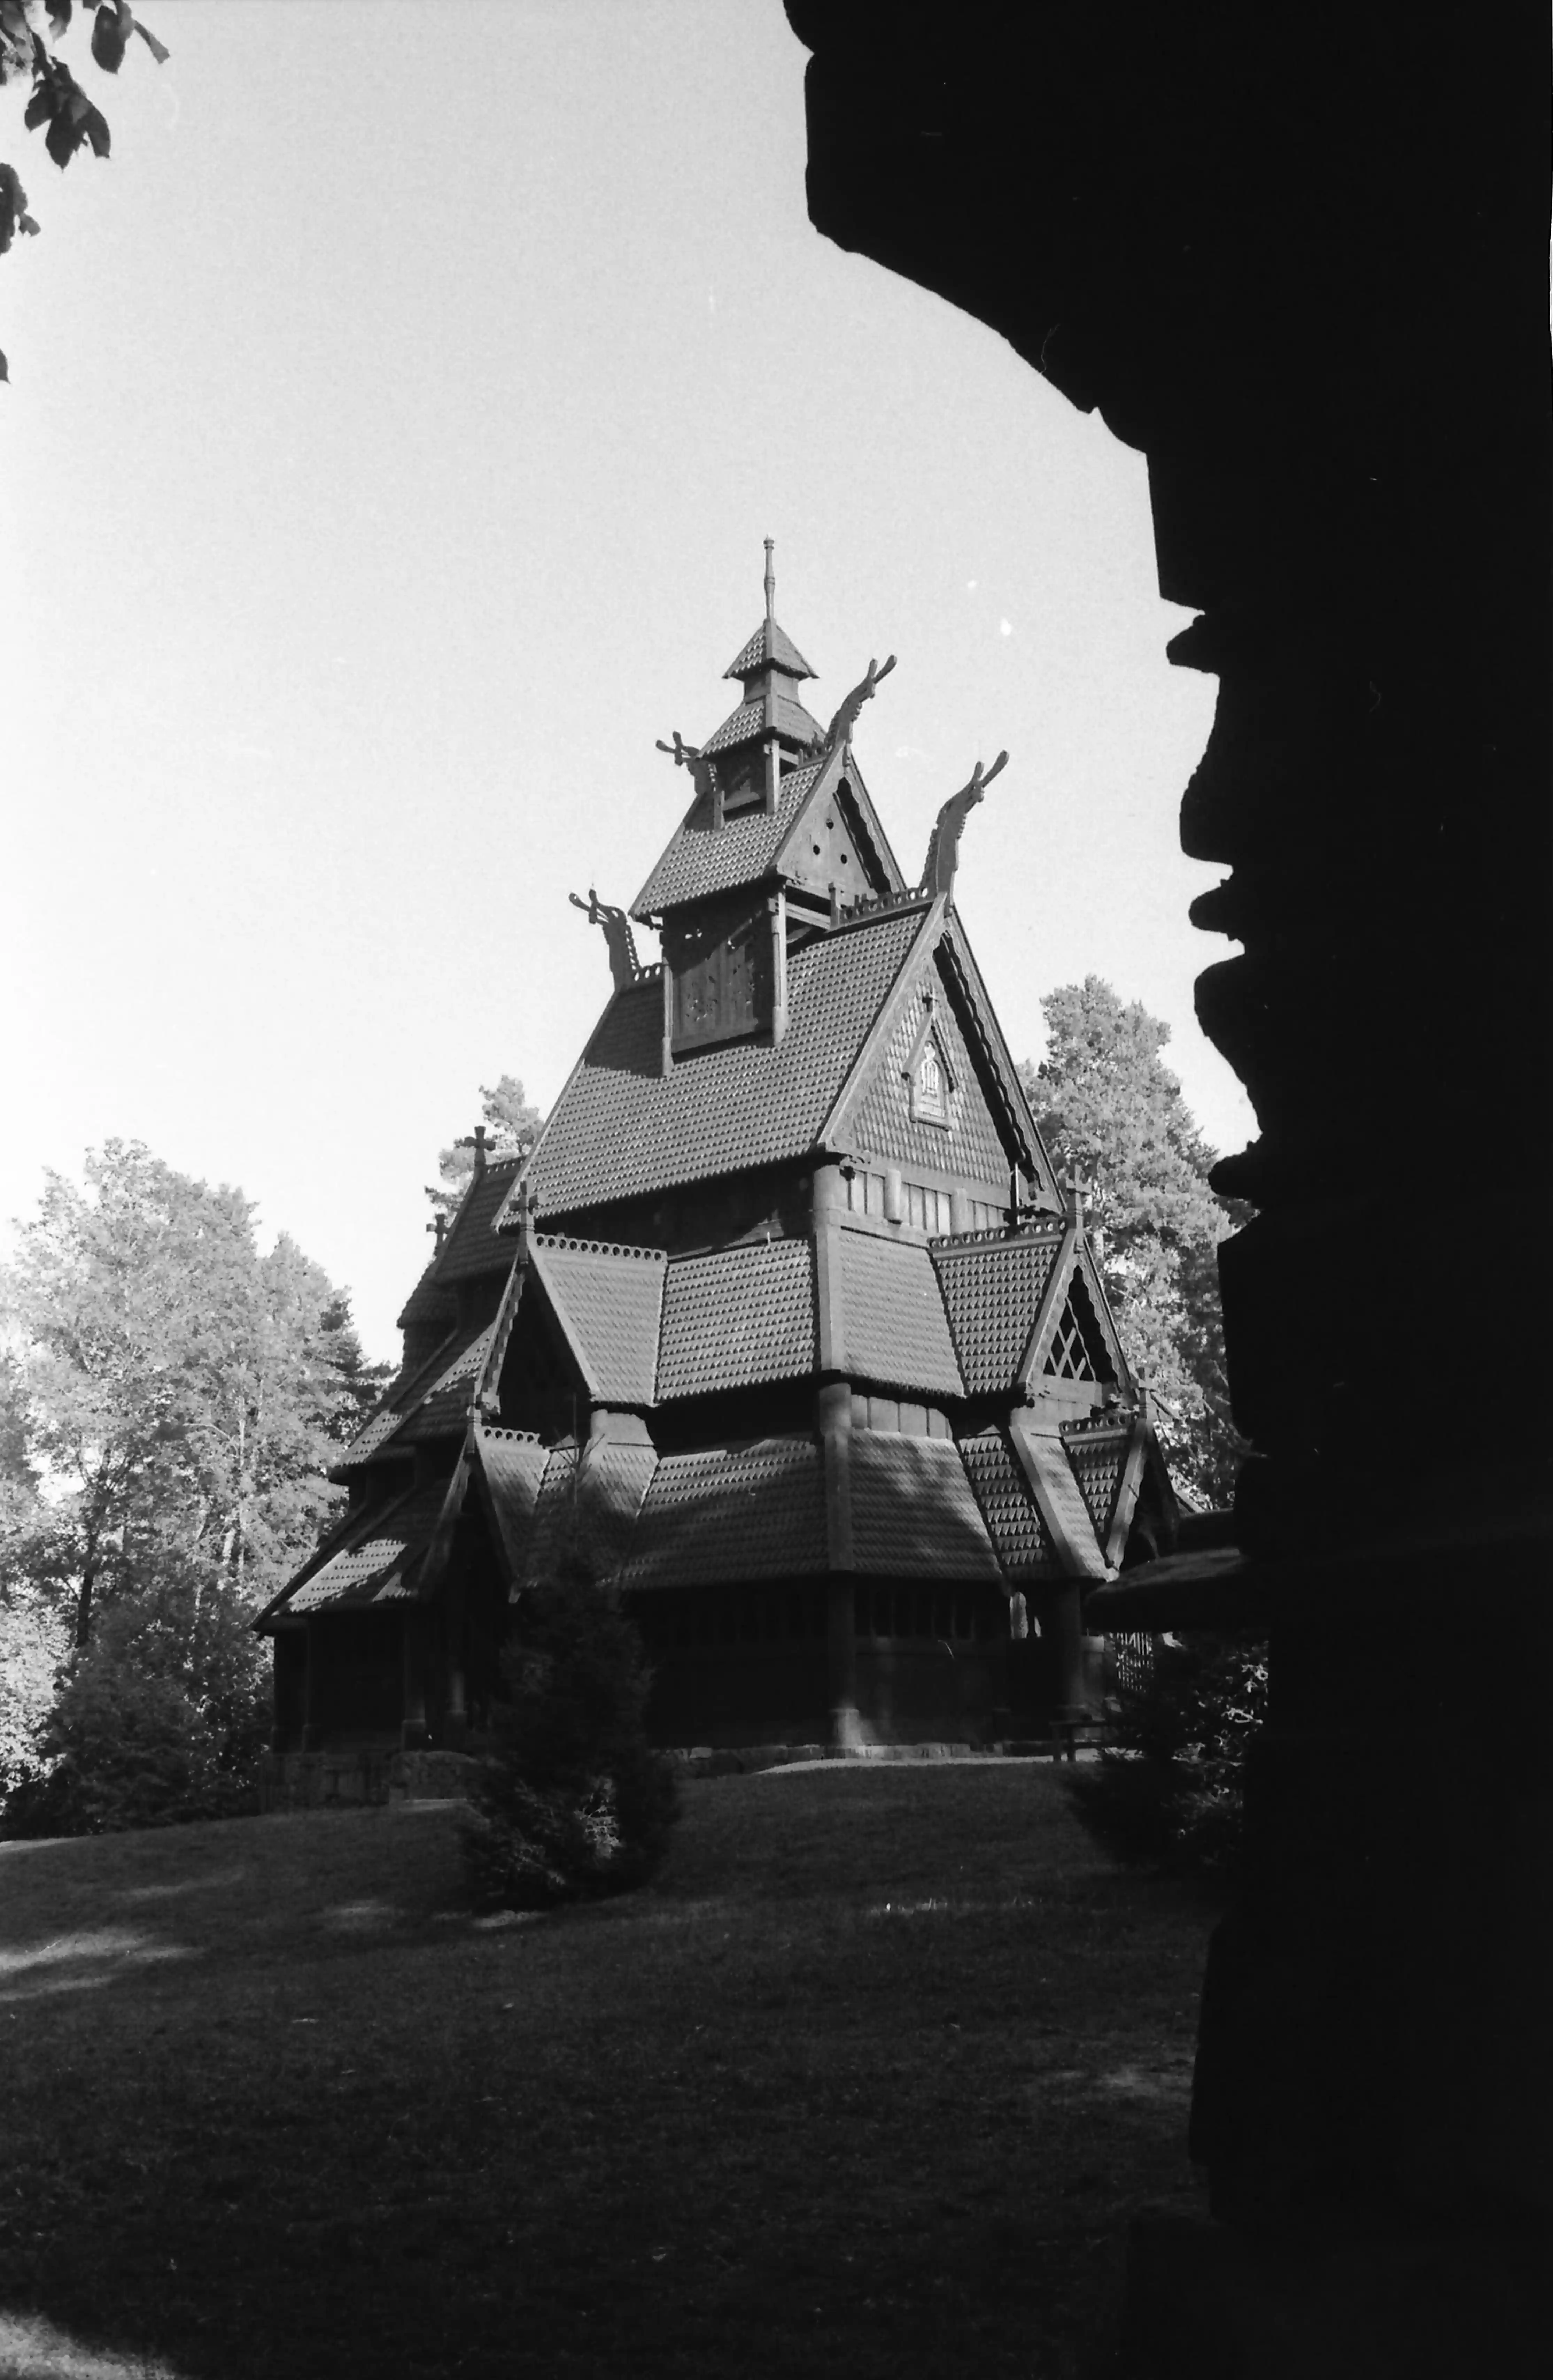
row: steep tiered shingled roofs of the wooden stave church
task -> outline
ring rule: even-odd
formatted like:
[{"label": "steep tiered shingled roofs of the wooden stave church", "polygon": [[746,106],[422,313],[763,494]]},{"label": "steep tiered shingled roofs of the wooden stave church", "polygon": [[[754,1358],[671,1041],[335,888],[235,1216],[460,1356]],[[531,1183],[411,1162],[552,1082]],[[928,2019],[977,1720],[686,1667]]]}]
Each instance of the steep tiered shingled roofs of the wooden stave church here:
[{"label": "steep tiered shingled roofs of the wooden stave church", "polygon": [[[780,704],[792,702],[818,743],[792,693],[811,669],[775,624],[771,583],[766,621],[728,676],[747,693],[735,721],[761,714],[749,733],[787,733]],[[870,666],[844,716],[873,683]],[[659,973],[623,981],[530,1159],[476,1152],[452,1230],[404,1309],[419,1349],[438,1326],[440,1342],[407,1364],[340,1461],[345,1476],[383,1473],[442,1442],[442,1478],[426,1485],[426,1461],[385,1471],[392,1499],[354,1514],[266,1618],[435,1592],[469,1490],[514,1595],[573,1528],[633,1592],[832,1568],[1013,1592],[1101,1578],[1120,1561],[1144,1464],[1158,1461],[1146,1402],[1130,1390],[1077,1197],[1061,1209],[951,895],[904,888],[844,733],[790,769],[773,814],[716,823],[702,793],[635,909],[782,881],[813,804],[844,807],[842,785],[882,854],[870,862],[875,897],[790,947],[785,1031],[666,1064]],[[911,1107],[928,1033],[951,1078],[944,1121]],[[837,1159],[859,1195],[816,1209],[799,1235],[773,1216],[763,1238],[668,1254],[557,1228],[630,1202],[645,1219],[668,1190]],[[861,1195],[868,1180],[882,1190],[870,1166],[970,1183],[958,1195],[982,1214],[999,1209],[1013,1171],[1035,1209],[1013,1204],[1008,1228],[980,1233],[901,1230]],[[509,1352],[533,1349],[533,1328],[576,1380],[583,1445],[495,1421]],[[675,1447],[687,1399],[830,1378],[854,1388],[840,1435],[813,1423]],[[1061,1388],[1073,1378],[1087,1388]],[[725,1411],[749,1426],[782,1409]]]}]

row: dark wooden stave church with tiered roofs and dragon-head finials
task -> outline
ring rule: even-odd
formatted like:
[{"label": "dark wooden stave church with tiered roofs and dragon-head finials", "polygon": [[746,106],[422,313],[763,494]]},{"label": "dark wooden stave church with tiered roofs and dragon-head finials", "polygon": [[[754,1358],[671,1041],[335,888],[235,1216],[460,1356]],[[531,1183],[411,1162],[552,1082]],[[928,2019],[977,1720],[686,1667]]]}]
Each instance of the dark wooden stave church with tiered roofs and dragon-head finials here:
[{"label": "dark wooden stave church with tiered roofs and dragon-head finials", "polygon": [[[604,926],[614,988],[518,1164],[476,1171],[259,1614],[271,1790],[478,1749],[568,1545],[621,1590],[664,1745],[999,1742],[1094,1711],[1084,1590],[1177,1507],[954,904],[977,771],[908,885],[773,609],[694,800]],[[1001,762],[999,762],[1001,766]],[[656,926],[642,966],[630,919]]]}]

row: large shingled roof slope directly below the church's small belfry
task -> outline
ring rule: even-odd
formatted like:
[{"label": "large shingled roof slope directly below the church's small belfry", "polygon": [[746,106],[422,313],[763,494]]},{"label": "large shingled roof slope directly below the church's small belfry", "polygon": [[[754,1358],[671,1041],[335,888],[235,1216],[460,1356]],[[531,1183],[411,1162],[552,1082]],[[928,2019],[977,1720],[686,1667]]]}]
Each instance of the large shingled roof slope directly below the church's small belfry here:
[{"label": "large shingled roof slope directly below the church's small belfry", "polygon": [[778,1047],[725,1042],[664,1073],[661,985],[616,992],[533,1152],[540,1209],[571,1214],[811,1150],[925,916],[885,909],[794,950]]}]

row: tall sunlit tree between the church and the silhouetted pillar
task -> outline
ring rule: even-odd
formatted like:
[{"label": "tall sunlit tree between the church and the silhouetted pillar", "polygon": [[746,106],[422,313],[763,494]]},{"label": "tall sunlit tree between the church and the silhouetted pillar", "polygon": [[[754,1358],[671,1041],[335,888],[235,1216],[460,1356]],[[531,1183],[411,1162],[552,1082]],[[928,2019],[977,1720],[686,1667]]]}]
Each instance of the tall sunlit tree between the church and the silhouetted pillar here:
[{"label": "tall sunlit tree between the church and the silhouetted pillar", "polygon": [[1170,1026],[1087,976],[1042,1000],[1046,1057],[1020,1066],[1042,1138],[1089,1178],[1106,1295],[1149,1380],[1175,1478],[1227,1504],[1230,1423],[1215,1247],[1244,1209],[1213,1195],[1215,1152],[1161,1052]]}]

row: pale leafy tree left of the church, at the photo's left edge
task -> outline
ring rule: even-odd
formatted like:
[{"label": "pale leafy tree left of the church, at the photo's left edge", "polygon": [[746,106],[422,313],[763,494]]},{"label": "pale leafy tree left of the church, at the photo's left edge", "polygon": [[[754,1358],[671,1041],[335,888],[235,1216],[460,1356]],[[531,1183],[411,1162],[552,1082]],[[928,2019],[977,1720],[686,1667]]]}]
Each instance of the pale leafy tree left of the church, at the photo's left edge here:
[{"label": "pale leafy tree left of the church, at the photo's left edge", "polygon": [[[48,1616],[69,1652],[43,1749],[81,1780],[143,1740],[131,1771],[162,1761],[171,1814],[193,1814],[200,1778],[262,1740],[247,1623],[338,1504],[323,1473],[369,1392],[347,1302],[293,1240],[259,1254],[238,1190],[109,1140],[86,1190],[45,1176],[0,1307],[33,1480],[5,1507],[0,1592],[12,1637]],[[121,1806],[93,1792],[71,1823]]]}]

